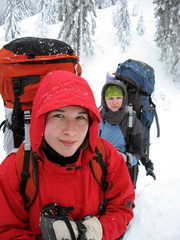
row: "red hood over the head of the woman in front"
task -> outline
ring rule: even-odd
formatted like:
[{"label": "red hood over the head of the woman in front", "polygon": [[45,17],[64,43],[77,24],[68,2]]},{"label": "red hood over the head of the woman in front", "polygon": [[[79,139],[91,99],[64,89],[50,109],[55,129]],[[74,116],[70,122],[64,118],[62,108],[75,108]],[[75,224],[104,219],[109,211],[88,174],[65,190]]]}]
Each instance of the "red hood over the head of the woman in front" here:
[{"label": "red hood over the head of the woman in front", "polygon": [[42,79],[33,101],[30,124],[33,152],[36,152],[41,145],[47,112],[69,105],[81,106],[89,110],[93,120],[89,129],[89,143],[91,150],[94,151],[100,114],[93,93],[82,77],[67,71],[54,71]]}]

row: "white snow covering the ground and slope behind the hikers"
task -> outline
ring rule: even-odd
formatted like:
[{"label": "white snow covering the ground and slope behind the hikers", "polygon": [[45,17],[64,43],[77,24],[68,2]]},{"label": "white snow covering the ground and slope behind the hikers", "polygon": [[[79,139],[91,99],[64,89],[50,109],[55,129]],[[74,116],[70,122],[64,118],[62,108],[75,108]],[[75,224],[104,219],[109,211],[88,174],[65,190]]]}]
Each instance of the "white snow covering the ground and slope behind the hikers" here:
[{"label": "white snow covering the ground and slope behind the hikers", "polygon": [[[157,180],[146,176],[140,166],[136,189],[136,207],[134,218],[128,227],[124,240],[179,240],[180,239],[180,87],[172,81],[172,76],[165,72],[165,65],[160,59],[160,49],[154,39],[155,20],[151,0],[129,0],[128,7],[132,13],[134,5],[139,6],[136,17],[130,15],[131,38],[127,52],[121,53],[115,29],[112,26],[112,13],[117,6],[97,11],[97,29],[94,36],[95,55],[83,57],[82,76],[90,84],[97,105],[100,105],[101,89],[106,79],[106,72],[116,70],[119,62],[129,58],[142,60],[155,69],[156,86],[153,101],[157,106],[160,123],[160,138],[157,138],[155,121],[151,130],[150,158],[155,167]],[[143,15],[145,34],[137,35],[136,27],[139,16]],[[36,36],[36,16],[21,22],[22,36]],[[47,37],[56,38],[59,25],[48,26]],[[0,45],[4,30],[0,28]],[[0,47],[1,47],[0,46]],[[2,100],[0,102],[0,122],[4,120]],[[3,150],[3,133],[0,133],[1,158]]]}]

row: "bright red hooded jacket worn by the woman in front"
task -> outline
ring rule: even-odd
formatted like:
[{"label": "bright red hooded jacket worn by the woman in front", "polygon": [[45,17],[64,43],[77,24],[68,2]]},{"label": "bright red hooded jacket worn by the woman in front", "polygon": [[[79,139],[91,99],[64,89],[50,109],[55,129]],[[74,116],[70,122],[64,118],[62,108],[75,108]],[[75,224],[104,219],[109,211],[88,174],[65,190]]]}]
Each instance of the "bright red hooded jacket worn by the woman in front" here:
[{"label": "bright red hooded jacket worn by the woman in front", "polygon": [[[48,93],[48,94],[47,94]],[[79,159],[65,167],[47,160],[40,145],[44,133],[45,116],[48,111],[67,105],[80,105],[89,110],[92,124],[89,128],[90,147],[81,151]],[[89,160],[94,155],[98,138],[100,115],[87,82],[81,77],[57,71],[42,81],[34,99],[30,137],[32,150],[38,160],[39,191],[35,202],[27,210],[20,194],[15,168],[16,154],[9,155],[0,165],[0,240],[32,240],[41,234],[39,227],[42,207],[50,202],[61,206],[73,206],[68,215],[79,220],[87,215],[99,216],[98,207],[103,192],[90,170]],[[107,180],[113,183],[108,189],[106,214],[100,218],[103,240],[114,240],[126,230],[133,217],[129,201],[134,201],[134,188],[121,155],[106,140]],[[77,167],[81,166],[81,167]]]}]

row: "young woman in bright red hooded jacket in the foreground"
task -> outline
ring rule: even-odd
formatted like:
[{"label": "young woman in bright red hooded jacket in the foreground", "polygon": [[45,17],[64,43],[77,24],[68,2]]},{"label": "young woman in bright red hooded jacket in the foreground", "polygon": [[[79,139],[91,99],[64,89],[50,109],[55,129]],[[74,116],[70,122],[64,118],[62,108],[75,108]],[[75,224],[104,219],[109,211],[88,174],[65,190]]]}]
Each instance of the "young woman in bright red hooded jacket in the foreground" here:
[{"label": "young woman in bright red hooded jacket in the foreground", "polygon": [[[55,71],[43,78],[30,123],[32,151],[38,156],[38,193],[26,209],[16,153],[11,153],[0,165],[0,239],[71,240],[82,233],[87,240],[114,240],[126,231],[133,218],[134,188],[124,159],[104,139],[109,187],[106,211],[99,212],[104,195],[89,165],[99,122],[93,93],[82,77]],[[52,208],[68,208],[63,211],[68,218],[53,216],[48,208],[49,216],[44,209],[50,203],[55,203]]]}]

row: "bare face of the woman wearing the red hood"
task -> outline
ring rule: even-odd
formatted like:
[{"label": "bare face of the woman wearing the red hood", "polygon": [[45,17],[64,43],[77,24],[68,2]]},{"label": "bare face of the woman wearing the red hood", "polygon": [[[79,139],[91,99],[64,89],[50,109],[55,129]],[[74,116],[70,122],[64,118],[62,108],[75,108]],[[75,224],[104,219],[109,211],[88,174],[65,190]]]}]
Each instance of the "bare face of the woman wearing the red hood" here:
[{"label": "bare face of the woman wearing the red hood", "polygon": [[88,111],[65,106],[46,115],[44,138],[60,155],[72,156],[83,143],[89,128]]}]

